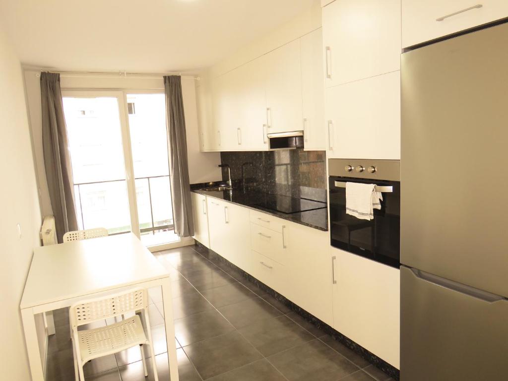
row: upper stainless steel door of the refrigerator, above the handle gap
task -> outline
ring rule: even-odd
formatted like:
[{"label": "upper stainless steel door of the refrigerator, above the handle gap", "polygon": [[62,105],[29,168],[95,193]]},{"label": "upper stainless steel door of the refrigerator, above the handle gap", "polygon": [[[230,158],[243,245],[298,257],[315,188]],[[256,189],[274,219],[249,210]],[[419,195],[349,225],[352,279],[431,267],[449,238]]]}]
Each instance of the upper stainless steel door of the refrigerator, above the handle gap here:
[{"label": "upper stainless steel door of the refrigerator, above the handle gap", "polygon": [[401,263],[508,296],[508,24],[401,56]]}]

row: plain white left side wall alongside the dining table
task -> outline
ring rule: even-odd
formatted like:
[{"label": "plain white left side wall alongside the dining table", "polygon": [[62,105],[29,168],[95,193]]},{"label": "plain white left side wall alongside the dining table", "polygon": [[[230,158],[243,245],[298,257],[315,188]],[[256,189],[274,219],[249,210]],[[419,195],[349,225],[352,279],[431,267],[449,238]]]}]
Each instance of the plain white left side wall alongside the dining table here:
[{"label": "plain white left side wall alongside the dining table", "polygon": [[[3,378],[30,379],[19,302],[33,249],[40,245],[41,213],[21,65],[0,31],[0,305]],[[17,224],[21,228],[18,235]]]}]

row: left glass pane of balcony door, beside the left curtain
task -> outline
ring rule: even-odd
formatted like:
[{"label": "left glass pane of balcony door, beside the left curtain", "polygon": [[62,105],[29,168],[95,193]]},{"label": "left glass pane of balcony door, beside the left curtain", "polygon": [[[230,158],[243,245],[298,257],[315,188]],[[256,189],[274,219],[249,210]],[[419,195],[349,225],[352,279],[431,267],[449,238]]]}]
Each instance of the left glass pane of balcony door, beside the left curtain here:
[{"label": "left glass pane of balcony door, beside the left curtain", "polygon": [[131,231],[119,101],[63,96],[79,229]]}]

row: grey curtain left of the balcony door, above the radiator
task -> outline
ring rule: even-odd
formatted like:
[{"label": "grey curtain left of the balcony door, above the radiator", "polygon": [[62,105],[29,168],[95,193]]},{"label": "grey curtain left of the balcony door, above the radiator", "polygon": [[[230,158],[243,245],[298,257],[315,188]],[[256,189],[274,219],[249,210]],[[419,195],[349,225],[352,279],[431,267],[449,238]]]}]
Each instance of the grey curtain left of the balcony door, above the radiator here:
[{"label": "grey curtain left of the balcony door, above the radiator", "polygon": [[63,116],[60,75],[41,73],[42,147],[58,242],[78,230],[67,128]]}]

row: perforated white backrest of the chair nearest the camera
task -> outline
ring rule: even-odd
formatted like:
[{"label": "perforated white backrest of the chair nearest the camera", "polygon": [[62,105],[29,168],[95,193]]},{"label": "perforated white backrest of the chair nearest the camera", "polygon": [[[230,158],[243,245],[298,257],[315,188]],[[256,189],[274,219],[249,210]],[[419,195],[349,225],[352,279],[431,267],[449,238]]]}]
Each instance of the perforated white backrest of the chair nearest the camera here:
[{"label": "perforated white backrest of the chair nearest the camera", "polygon": [[71,306],[69,315],[71,326],[79,327],[145,308],[148,308],[148,292],[138,288],[107,297],[81,300]]}]

